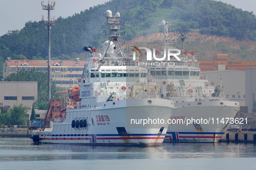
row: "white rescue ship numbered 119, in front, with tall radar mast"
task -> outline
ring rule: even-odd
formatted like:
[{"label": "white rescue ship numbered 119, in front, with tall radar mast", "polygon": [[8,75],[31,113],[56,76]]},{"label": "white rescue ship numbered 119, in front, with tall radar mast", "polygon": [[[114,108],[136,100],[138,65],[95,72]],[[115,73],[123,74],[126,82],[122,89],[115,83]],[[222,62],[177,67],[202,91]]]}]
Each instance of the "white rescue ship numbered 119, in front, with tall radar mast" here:
[{"label": "white rescue ship numbered 119, in front, with tall radar mast", "polygon": [[[84,47],[90,54],[83,77],[78,81],[80,104],[67,107],[65,118],[52,117],[52,128],[33,131],[34,142],[105,146],[162,144],[174,103],[152,94],[155,86],[147,82],[148,70],[125,60],[122,44],[118,41],[122,35],[120,13],[112,16],[107,10],[105,16],[109,41],[103,45],[103,58],[94,48]],[[134,96],[139,90],[134,91],[134,86],[142,87],[143,94]],[[159,118],[165,123],[143,126],[141,121],[138,125],[138,118],[153,121]]]}]

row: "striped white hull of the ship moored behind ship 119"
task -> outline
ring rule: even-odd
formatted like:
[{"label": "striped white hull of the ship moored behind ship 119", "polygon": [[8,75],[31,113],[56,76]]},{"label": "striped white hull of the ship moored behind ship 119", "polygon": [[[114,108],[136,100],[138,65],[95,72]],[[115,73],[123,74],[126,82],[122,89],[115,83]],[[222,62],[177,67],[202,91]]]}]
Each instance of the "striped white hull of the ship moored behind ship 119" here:
[{"label": "striped white hull of the ship moored behind ship 119", "polygon": [[[221,102],[222,105],[220,105]],[[229,123],[230,118],[234,118],[236,115],[238,106],[239,102],[233,101],[175,103],[176,110],[172,113],[172,119],[178,117],[186,120],[184,124],[169,124],[164,142],[219,142],[229,125],[226,124],[226,118],[229,118]],[[225,123],[220,123],[223,118]],[[202,119],[202,121],[200,123],[198,121],[199,125],[197,123],[187,124],[187,119]]]}]

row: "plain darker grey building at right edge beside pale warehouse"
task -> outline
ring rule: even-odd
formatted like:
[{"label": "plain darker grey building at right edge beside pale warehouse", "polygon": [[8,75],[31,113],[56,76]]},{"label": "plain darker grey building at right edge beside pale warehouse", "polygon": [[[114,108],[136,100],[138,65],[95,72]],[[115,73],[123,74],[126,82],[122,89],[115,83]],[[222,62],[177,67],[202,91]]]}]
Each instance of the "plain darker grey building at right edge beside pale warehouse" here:
[{"label": "plain darker grey building at right edge beside pale warehouse", "polygon": [[245,105],[248,106],[248,112],[252,113],[253,101],[256,100],[256,67],[245,68]]}]

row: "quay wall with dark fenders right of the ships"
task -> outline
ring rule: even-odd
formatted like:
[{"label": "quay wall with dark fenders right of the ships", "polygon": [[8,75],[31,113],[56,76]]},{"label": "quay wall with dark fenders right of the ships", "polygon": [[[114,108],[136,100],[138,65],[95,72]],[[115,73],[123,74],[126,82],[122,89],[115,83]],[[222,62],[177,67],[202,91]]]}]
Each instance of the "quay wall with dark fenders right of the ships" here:
[{"label": "quay wall with dark fenders right of the ships", "polygon": [[256,132],[226,132],[219,142],[253,143],[256,142]]}]

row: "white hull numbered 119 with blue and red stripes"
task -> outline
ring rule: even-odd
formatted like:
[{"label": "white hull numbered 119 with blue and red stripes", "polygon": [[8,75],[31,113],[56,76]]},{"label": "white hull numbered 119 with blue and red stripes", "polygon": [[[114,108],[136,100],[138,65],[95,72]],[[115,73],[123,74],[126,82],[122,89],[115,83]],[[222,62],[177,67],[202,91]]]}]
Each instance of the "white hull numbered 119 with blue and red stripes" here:
[{"label": "white hull numbered 119 with blue and red stripes", "polygon": [[[152,103],[148,103],[148,101]],[[113,104],[114,103],[114,104]],[[94,105],[94,104],[93,104]],[[94,108],[67,110],[66,119],[53,123],[53,130],[34,131],[41,143],[93,146],[160,146],[165,138],[174,105],[165,99],[130,99],[95,103]],[[164,119],[164,124],[144,127],[130,118]],[[72,128],[72,120],[87,119],[86,128]],[[130,124],[129,124],[130,123]],[[142,122],[143,123],[143,122]],[[133,127],[139,127],[134,129]],[[159,133],[159,131],[162,131]]]}]

